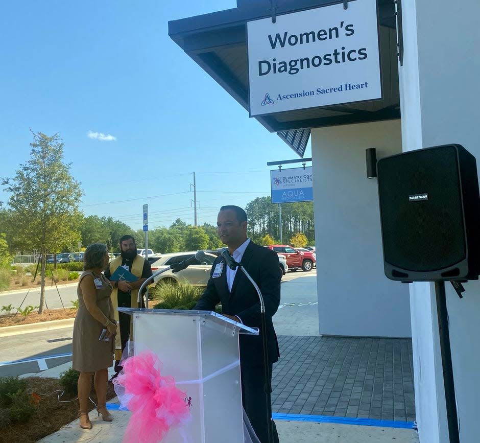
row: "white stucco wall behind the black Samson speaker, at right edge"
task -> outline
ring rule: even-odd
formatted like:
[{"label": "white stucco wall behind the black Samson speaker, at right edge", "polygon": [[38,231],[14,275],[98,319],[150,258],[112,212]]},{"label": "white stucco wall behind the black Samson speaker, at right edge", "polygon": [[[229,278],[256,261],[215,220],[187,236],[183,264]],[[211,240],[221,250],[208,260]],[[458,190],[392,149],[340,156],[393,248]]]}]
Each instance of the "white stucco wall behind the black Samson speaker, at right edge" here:
[{"label": "white stucco wall behind the black Samson speaker, at right edge", "polygon": [[[480,160],[480,2],[403,5],[399,67],[403,150],[460,143]],[[448,235],[448,233],[446,233]],[[480,253],[480,251],[475,251]],[[480,283],[459,299],[446,285],[461,443],[480,441]],[[421,443],[448,441],[433,285],[410,285],[415,398]]]}]

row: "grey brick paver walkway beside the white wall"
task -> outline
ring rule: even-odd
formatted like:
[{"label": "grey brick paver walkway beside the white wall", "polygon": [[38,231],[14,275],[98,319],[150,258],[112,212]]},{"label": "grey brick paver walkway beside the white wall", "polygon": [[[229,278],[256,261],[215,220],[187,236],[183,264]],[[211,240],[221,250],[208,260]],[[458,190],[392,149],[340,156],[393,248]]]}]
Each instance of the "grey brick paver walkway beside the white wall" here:
[{"label": "grey brick paver walkway beside the white wall", "polygon": [[415,421],[410,339],[280,336],[272,410]]}]

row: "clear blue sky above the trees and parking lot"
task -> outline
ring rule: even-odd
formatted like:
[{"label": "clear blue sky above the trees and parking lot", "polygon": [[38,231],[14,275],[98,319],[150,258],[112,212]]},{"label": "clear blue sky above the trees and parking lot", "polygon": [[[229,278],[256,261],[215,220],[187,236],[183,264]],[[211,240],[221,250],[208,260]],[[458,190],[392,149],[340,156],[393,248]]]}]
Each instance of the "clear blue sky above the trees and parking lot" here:
[{"label": "clear blue sky above the trees and parking lot", "polygon": [[[168,36],[169,20],[235,6],[231,0],[4,3],[0,177],[14,176],[28,160],[32,128],[60,132],[65,161],[82,182],[85,215],[112,216],[134,229],[141,228],[143,203],[150,229],[178,217],[193,223],[193,171],[199,224],[214,223],[222,204],[245,206],[269,195],[267,161],[295,153],[249,119]],[[0,201],[7,199],[0,190]]]}]

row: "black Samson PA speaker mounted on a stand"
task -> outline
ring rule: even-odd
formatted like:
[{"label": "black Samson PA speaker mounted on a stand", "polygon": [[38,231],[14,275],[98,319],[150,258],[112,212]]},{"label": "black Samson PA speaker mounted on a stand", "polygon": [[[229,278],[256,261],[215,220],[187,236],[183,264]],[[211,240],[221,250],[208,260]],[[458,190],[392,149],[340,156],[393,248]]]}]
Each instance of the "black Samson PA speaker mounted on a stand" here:
[{"label": "black Samson PA speaker mounted on a stand", "polygon": [[377,162],[385,274],[404,282],[480,274],[480,197],[475,157],[444,145]]}]

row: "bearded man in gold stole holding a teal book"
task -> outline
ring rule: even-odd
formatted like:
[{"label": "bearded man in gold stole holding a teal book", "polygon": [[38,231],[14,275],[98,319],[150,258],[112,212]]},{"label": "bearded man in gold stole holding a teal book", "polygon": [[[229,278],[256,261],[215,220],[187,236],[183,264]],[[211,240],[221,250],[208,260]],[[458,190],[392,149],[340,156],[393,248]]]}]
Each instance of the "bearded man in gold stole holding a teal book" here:
[{"label": "bearded man in gold stole holding a teal book", "polygon": [[[132,236],[126,235],[120,239],[120,257],[110,262],[110,265],[105,270],[105,276],[110,279],[110,276],[115,272],[118,266],[122,266],[127,271],[138,277],[135,282],[126,282],[125,280],[111,281],[113,291],[111,294],[114,315],[117,324],[120,325],[120,334],[115,336],[115,378],[118,372],[122,370],[119,365],[122,359],[122,353],[125,349],[130,335],[133,336],[133,324],[131,323],[131,316],[124,312],[118,312],[117,307],[122,308],[137,308],[138,307],[138,290],[143,282],[152,276],[152,268],[150,263],[143,257],[137,254],[137,245]],[[142,308],[143,305],[142,300]]]}]

